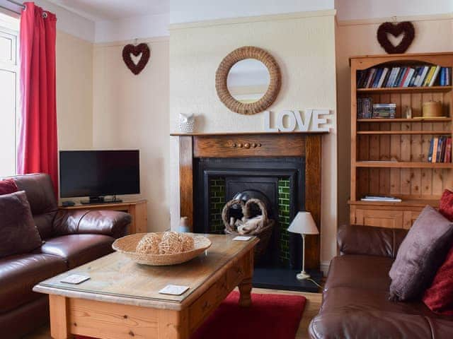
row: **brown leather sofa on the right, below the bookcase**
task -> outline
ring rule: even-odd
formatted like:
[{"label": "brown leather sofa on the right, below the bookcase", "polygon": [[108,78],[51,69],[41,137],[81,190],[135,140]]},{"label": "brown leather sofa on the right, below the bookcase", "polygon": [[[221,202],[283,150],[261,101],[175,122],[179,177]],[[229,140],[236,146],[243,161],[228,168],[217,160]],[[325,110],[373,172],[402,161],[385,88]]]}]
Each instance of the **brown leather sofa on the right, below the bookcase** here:
[{"label": "brown leather sofa on the right, below the bookcase", "polygon": [[311,338],[453,338],[453,316],[432,313],[420,300],[389,301],[389,270],[407,231],[343,226],[340,256],[331,261]]}]

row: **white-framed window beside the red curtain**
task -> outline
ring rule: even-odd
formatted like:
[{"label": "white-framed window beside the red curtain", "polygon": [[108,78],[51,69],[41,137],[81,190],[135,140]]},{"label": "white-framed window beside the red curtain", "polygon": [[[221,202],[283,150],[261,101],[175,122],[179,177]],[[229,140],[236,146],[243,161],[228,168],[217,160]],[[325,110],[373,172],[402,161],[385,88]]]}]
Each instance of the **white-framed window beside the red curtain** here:
[{"label": "white-framed window beside the red curtain", "polygon": [[0,13],[0,177],[16,173],[19,20]]}]

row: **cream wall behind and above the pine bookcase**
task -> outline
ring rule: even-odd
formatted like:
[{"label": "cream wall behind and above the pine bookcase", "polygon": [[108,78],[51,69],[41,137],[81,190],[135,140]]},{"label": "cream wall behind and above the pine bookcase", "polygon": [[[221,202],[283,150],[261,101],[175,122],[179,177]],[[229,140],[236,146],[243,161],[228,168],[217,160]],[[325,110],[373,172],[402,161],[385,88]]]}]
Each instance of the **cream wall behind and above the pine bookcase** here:
[{"label": "cream wall behind and above the pine bookcase", "polygon": [[[379,24],[390,19],[338,22],[336,25],[336,58],[338,88],[338,222],[349,222],[350,194],[350,67],[353,55],[385,54],[376,39]],[[447,52],[453,50],[451,16],[398,18],[411,20],[415,40],[408,49],[413,52]]]}]

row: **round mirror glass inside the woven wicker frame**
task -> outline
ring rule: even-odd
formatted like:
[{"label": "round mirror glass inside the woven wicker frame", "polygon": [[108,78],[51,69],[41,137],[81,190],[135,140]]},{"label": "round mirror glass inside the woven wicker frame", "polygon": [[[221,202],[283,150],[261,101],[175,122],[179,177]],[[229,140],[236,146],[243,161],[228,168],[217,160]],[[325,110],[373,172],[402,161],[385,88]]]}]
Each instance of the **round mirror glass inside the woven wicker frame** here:
[{"label": "round mirror glass inside the woven wicker frame", "polygon": [[243,59],[231,67],[226,87],[234,99],[243,104],[260,100],[269,88],[268,68],[257,59]]}]

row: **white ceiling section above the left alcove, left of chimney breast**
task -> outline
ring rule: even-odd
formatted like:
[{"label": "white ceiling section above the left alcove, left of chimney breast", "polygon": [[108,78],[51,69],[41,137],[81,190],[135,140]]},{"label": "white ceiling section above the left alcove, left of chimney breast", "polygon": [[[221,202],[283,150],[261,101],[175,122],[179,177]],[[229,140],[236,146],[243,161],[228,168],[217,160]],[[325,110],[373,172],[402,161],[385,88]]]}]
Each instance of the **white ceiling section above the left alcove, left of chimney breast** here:
[{"label": "white ceiling section above the left alcove, left of chimney breast", "polygon": [[170,0],[47,0],[85,18],[116,20],[168,13]]}]

